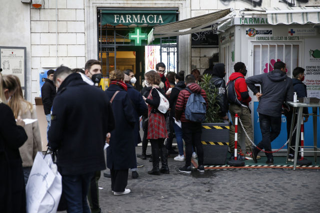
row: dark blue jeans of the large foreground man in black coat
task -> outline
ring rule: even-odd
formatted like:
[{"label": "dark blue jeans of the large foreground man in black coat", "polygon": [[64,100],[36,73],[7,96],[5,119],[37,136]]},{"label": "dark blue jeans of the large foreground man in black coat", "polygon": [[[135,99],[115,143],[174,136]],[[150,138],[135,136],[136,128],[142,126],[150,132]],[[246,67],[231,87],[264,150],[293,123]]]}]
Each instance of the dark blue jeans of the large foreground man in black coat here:
[{"label": "dark blue jeans of the large foreground man in black coat", "polygon": [[62,193],[67,204],[67,213],[91,213],[86,196],[95,172],[82,175],[62,175]]}]

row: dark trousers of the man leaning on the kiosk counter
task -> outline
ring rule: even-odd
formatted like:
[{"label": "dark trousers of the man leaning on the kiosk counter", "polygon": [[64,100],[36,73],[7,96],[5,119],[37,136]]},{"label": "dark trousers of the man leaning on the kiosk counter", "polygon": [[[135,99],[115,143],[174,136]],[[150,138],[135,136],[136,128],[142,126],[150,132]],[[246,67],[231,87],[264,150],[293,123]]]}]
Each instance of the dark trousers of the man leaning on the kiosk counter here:
[{"label": "dark trousers of the man leaning on the kiosk counter", "polygon": [[[281,116],[273,117],[259,113],[259,123],[262,134],[262,141],[257,145],[264,151],[271,152],[271,142],[278,137],[281,131]],[[265,153],[265,156],[273,158],[272,153]]]}]

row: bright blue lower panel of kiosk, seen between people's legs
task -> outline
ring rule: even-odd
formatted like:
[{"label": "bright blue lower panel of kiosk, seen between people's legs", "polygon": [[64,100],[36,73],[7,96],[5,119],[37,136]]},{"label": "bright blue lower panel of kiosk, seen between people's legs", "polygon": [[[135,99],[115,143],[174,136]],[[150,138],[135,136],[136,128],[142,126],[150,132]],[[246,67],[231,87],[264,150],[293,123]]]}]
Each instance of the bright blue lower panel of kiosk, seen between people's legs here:
[{"label": "bright blue lower panel of kiosk, seen between people's legs", "polygon": [[[262,140],[260,124],[259,124],[259,116],[256,112],[259,102],[253,103],[253,142],[254,144],[258,144]],[[309,113],[312,113],[312,108],[308,108]],[[319,112],[318,112],[319,115]],[[312,116],[309,116],[308,122],[304,123],[304,146],[313,146],[313,120]],[[271,143],[272,150],[281,148],[286,140],[287,140],[287,132],[286,132],[286,117],[284,115],[281,116],[281,132],[280,135]],[[320,141],[320,122],[317,117],[317,141]],[[283,147],[283,149],[287,149],[287,146]]]}]

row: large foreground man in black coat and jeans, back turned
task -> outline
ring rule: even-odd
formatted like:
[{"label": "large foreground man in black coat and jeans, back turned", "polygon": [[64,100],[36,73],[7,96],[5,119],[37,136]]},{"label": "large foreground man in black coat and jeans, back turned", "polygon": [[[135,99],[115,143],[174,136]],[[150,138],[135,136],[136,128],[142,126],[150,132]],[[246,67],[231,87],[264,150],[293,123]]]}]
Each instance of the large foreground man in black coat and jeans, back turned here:
[{"label": "large foreground man in black coat and jeans, back turned", "polygon": [[96,171],[105,169],[103,147],[115,121],[109,99],[80,74],[60,66],[54,73],[58,93],[52,106],[49,146],[57,152],[58,171],[67,212],[90,213],[88,187]]}]

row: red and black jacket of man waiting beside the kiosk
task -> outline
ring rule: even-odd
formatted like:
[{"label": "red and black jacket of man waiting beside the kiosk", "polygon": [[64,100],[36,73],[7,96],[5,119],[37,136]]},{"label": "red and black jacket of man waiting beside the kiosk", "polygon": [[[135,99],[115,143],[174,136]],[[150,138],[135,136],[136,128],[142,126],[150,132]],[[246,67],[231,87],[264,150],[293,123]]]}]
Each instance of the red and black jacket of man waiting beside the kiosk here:
[{"label": "red and black jacket of man waiting beside the kiosk", "polygon": [[245,106],[249,106],[249,103],[251,101],[251,97],[249,96],[248,88],[245,83],[245,79],[244,79],[243,74],[240,72],[233,72],[230,75],[229,80],[234,81],[235,79],[237,79],[237,80],[234,82],[234,89],[235,89],[235,93],[236,93],[238,100],[240,101],[241,104],[243,104]]}]

